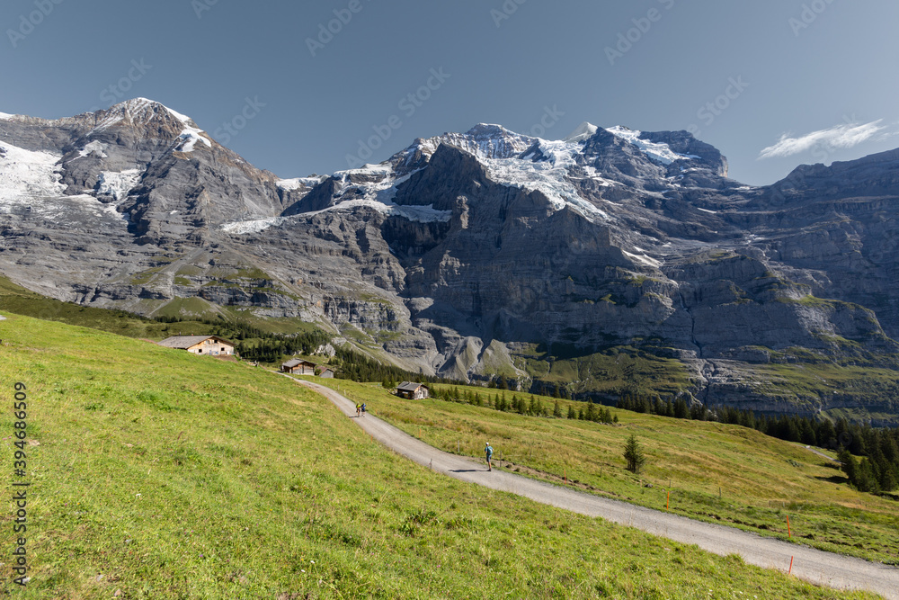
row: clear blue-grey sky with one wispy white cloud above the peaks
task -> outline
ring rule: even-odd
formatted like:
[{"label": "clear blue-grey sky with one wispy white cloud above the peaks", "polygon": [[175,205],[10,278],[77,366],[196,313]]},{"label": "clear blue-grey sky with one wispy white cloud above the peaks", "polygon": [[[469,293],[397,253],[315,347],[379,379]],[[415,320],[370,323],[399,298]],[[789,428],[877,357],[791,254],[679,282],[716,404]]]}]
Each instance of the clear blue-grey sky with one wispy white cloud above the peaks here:
[{"label": "clear blue-grey sky with one wispy white cloud above the peaks", "polygon": [[283,177],[478,122],[687,129],[770,184],[899,147],[897,22],[892,0],[5,0],[0,111],[143,96]]}]

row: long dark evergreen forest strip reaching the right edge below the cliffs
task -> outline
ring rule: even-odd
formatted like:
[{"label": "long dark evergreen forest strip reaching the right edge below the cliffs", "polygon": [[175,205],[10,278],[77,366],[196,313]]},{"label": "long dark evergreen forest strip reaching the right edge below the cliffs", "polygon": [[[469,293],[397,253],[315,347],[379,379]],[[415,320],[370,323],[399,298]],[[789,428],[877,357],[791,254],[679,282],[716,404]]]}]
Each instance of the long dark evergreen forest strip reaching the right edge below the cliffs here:
[{"label": "long dark evergreen forest strip reaching the right edge below the cliffs", "polygon": [[[860,491],[879,493],[899,488],[899,429],[850,424],[845,418],[833,423],[807,416],[756,415],[734,407],[689,407],[683,399],[648,399],[629,394],[623,395],[616,406],[638,413],[743,425],[787,442],[839,450],[842,469]],[[859,461],[856,456],[862,459]]]}]

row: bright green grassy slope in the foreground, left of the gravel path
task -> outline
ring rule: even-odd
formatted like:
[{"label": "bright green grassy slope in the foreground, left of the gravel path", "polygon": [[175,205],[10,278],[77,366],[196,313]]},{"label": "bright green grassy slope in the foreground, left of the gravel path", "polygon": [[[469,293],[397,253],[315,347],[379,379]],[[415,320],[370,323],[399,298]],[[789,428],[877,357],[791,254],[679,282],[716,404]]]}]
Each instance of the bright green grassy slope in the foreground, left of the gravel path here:
[{"label": "bright green grassy slope in the foreground, left of the gravel path", "polygon": [[15,382],[32,484],[14,597],[872,597],[444,478],[261,369],[4,315],[4,547]]}]

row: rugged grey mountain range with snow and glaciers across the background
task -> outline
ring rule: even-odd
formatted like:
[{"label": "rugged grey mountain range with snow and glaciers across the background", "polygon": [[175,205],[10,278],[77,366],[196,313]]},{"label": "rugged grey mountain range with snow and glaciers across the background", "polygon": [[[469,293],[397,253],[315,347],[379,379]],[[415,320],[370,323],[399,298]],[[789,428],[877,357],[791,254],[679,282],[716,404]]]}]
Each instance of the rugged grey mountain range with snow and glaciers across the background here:
[{"label": "rugged grey mountain range with snow and glaciers across the background", "polygon": [[315,321],[458,378],[537,385],[553,348],[585,364],[614,348],[679,362],[709,402],[770,409],[797,392],[757,385],[768,363],[895,368],[897,172],[895,152],[753,188],[686,131],[584,122],[557,140],[479,124],[279,178],[136,99],[0,115],[0,272],[144,314]]}]

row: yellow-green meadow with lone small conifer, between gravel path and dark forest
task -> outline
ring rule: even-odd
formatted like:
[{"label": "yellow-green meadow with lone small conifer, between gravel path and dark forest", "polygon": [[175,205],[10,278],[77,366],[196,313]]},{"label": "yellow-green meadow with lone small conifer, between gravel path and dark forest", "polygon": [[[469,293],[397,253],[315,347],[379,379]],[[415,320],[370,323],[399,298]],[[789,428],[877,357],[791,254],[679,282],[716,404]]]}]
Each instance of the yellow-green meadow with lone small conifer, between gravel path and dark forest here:
[{"label": "yellow-green meadow with lone small conifer, between gravel path and dark forest", "polygon": [[[681,515],[899,564],[899,496],[859,493],[835,462],[752,429],[615,408],[619,425],[601,425],[435,399],[410,402],[378,385],[340,385],[352,398],[366,399],[378,416],[447,452],[480,457],[489,441],[506,468],[526,475],[567,478],[594,493],[652,508],[665,508],[670,490],[671,509]],[[497,394],[470,390],[492,399]],[[504,394],[512,399],[512,392]],[[539,399],[551,412],[556,400]],[[567,414],[571,403],[559,403]],[[630,434],[647,456],[639,476],[625,470],[622,453]]]}]

